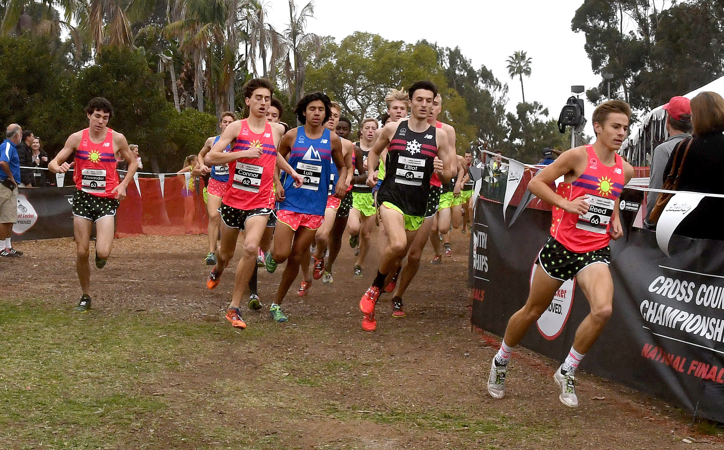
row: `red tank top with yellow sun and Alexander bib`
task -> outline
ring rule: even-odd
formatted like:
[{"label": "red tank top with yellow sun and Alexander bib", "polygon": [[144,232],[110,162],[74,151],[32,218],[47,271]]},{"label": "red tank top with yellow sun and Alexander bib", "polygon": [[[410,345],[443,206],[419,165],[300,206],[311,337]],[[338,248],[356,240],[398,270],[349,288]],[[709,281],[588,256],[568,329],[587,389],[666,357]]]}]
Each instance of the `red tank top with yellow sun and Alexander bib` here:
[{"label": "red tank top with yellow sun and Alexander bib", "polygon": [[80,145],[75,151],[73,181],[75,187],[98,197],[114,198],[118,186],[116,154],[113,149],[113,130],[108,129],[106,139],[100,144],[90,141],[88,129],[83,130]]}]

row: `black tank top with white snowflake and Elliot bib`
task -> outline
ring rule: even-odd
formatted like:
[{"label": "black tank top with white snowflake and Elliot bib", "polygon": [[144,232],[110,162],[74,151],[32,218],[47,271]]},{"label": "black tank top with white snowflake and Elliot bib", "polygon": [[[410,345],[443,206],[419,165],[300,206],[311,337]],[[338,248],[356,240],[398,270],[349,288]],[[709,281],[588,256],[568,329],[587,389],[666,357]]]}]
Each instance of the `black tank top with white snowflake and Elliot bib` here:
[{"label": "black tank top with white snowflake and Elliot bib", "polygon": [[412,131],[408,121],[397,126],[387,152],[387,165],[377,202],[390,202],[407,215],[424,216],[437,156],[436,129]]}]

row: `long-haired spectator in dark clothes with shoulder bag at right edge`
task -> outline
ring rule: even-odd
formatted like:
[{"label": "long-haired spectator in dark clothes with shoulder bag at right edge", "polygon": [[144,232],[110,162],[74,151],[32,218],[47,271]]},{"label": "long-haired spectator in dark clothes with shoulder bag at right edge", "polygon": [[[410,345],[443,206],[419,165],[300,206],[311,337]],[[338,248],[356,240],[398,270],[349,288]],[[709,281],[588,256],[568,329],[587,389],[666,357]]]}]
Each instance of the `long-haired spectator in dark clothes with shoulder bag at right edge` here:
[{"label": "long-haired spectator in dark clothes with shoulder bag at right edge", "polygon": [[[679,191],[724,194],[724,98],[716,92],[700,92],[691,99],[691,126],[694,140],[683,162]],[[683,142],[681,145],[686,145]],[[682,147],[683,151],[683,147]],[[671,169],[673,155],[663,172]],[[704,197],[676,228],[678,235],[696,239],[722,240],[720,214],[724,199]]]}]

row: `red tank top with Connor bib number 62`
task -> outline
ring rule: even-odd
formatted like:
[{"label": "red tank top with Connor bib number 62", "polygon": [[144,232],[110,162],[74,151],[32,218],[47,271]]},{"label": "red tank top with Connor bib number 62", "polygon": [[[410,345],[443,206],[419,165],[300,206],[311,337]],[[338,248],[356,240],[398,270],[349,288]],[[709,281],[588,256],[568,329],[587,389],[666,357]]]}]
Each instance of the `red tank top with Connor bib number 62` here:
[{"label": "red tank top with Connor bib number 62", "polygon": [[242,152],[250,147],[260,147],[261,157],[241,158],[229,163],[229,188],[222,202],[230,207],[249,210],[274,207],[274,165],[277,163],[277,147],[274,145],[271,125],[256,134],[244,119],[232,152]]}]

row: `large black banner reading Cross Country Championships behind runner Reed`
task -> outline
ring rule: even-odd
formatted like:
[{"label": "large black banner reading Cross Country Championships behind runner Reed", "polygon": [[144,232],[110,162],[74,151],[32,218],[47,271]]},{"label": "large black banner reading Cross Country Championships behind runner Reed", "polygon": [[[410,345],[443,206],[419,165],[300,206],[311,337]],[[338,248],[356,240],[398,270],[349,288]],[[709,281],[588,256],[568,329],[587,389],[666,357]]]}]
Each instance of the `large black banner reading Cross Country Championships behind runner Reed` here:
[{"label": "large black banner reading Cross Country Championships behind runner Reed", "polygon": [[[665,256],[655,233],[631,228],[640,197],[622,194],[625,235],[611,242],[613,315],[581,368],[724,422],[724,241],[674,236]],[[550,212],[525,209],[508,228],[502,205],[479,199],[474,222],[472,321],[502,336],[528,296]],[[569,280],[521,343],[563,360],[588,313],[586,297]]]}]

